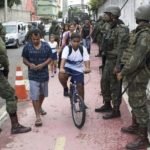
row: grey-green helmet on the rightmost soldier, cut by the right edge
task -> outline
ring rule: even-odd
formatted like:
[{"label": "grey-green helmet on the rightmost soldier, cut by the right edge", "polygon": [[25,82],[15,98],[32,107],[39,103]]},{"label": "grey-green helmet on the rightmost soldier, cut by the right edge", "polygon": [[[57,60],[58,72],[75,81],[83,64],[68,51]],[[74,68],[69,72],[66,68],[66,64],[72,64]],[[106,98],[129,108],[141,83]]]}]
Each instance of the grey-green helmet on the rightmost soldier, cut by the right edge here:
[{"label": "grey-green helmet on the rightmost soldier, cut by the right edge", "polygon": [[135,18],[150,21],[150,5],[143,5],[135,11]]}]

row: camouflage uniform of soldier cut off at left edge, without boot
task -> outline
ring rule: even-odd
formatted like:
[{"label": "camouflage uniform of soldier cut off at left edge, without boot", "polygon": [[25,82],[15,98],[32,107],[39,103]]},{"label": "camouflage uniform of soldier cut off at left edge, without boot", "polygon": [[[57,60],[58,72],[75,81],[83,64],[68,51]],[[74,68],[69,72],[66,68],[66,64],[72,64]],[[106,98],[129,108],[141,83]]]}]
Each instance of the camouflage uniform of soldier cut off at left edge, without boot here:
[{"label": "camouflage uniform of soldier cut off at left edge, without boot", "polygon": [[[0,38],[0,96],[6,99],[6,110],[8,113],[15,113],[17,111],[17,102],[15,98],[15,91],[8,83],[4,76],[8,72],[9,63],[6,54],[5,44]],[[6,74],[6,76],[8,73]]]}]

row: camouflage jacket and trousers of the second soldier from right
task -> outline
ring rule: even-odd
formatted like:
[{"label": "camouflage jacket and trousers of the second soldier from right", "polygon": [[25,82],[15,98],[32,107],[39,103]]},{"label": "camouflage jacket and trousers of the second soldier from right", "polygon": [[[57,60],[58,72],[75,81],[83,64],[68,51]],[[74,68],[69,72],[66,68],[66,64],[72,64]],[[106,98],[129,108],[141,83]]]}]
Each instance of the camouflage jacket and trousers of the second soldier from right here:
[{"label": "camouflage jacket and trousers of the second soldier from right", "polygon": [[[116,27],[110,29],[106,35],[107,48],[106,63],[103,71],[103,99],[105,102],[110,101],[113,103],[114,109],[119,109],[121,101],[118,101],[120,82],[117,80],[116,74],[113,73],[114,68],[120,69],[120,62],[123,51],[127,47],[129,30],[124,25],[116,25]],[[107,85],[105,85],[107,84]],[[108,86],[109,85],[109,86]],[[108,88],[108,89],[107,89]]]}]

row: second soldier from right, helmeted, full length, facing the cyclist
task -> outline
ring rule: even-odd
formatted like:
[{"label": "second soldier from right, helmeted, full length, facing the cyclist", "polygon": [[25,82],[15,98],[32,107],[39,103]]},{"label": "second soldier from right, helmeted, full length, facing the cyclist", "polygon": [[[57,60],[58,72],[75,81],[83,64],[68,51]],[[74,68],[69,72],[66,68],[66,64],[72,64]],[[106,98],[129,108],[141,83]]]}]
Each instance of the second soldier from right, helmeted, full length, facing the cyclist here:
[{"label": "second soldier from right, helmeted, full length, facing the cyclist", "polygon": [[110,16],[110,29],[107,31],[104,39],[104,52],[106,55],[105,67],[102,75],[102,95],[104,105],[100,108],[101,112],[111,110],[109,114],[103,116],[103,119],[111,119],[120,117],[121,99],[119,95],[121,92],[121,82],[117,81],[116,74],[120,71],[121,57],[123,51],[128,46],[129,29],[120,21],[120,8],[110,6],[104,11]]}]

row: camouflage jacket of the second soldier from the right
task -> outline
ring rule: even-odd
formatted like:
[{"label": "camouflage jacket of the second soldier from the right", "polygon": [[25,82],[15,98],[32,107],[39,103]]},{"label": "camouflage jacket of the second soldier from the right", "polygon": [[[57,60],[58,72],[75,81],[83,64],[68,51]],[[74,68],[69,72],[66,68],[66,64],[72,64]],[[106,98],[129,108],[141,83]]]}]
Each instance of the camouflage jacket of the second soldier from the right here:
[{"label": "camouflage jacket of the second soldier from the right", "polygon": [[116,67],[120,67],[123,51],[128,47],[129,29],[124,24],[111,27],[104,40],[106,58],[116,59]]}]

